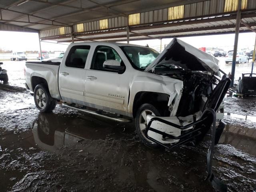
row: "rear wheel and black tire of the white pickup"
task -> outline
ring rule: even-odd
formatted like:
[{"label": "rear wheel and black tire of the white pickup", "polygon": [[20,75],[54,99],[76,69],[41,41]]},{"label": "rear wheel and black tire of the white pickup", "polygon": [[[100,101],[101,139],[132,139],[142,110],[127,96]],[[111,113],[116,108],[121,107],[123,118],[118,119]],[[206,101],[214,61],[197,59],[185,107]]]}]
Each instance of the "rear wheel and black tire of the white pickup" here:
[{"label": "rear wheel and black tire of the white pickup", "polygon": [[57,100],[51,97],[48,88],[44,84],[35,87],[34,101],[36,108],[41,112],[52,112],[57,104]]}]

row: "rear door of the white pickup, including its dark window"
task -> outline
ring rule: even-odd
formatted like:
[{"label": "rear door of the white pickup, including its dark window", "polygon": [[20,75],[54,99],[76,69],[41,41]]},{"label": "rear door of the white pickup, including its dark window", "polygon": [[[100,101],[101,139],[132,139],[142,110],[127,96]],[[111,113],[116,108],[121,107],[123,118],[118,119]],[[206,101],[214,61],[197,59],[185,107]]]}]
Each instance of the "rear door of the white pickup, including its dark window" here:
[{"label": "rear door of the white pickup, including its dark window", "polygon": [[86,62],[90,46],[73,46],[62,61],[59,72],[59,89],[62,100],[83,105],[85,102],[84,86]]}]

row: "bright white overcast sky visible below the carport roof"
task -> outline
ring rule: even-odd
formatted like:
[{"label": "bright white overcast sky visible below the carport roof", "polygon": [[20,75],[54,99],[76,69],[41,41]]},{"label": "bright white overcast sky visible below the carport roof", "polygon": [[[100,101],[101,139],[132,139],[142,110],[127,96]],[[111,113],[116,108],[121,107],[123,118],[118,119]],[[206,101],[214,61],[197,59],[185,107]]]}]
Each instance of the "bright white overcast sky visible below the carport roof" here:
[{"label": "bright white overcast sky visible below the carport roof", "polygon": [[[211,35],[211,36],[197,36],[197,37],[184,37],[181,40],[199,47],[221,47],[225,50],[229,50],[234,45],[234,34],[223,35]],[[163,39],[162,44],[168,44],[172,39]],[[255,34],[240,33],[238,40],[238,49],[249,48],[253,49],[255,41]],[[160,46],[160,40],[143,40],[143,41],[131,41],[132,44],[146,45],[150,47]],[[67,45],[53,44],[53,43],[41,43],[42,50],[47,51],[65,51]],[[13,51],[27,51],[38,50],[39,40],[37,33],[25,33],[25,32],[6,32],[0,31],[0,48]]]}]

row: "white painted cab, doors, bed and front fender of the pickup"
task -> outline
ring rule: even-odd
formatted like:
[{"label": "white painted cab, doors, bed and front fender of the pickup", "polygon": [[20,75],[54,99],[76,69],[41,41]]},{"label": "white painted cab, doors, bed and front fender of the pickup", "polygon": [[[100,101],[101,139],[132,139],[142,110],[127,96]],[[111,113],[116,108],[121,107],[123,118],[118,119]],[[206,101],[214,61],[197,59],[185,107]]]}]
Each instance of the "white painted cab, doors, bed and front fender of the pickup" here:
[{"label": "white painted cab, doors, bed and front fender of the pickup", "polygon": [[[70,48],[76,45],[91,46],[84,69],[65,66]],[[26,82],[30,90],[32,90],[32,76],[45,78],[53,98],[61,99],[63,97],[68,102],[76,102],[77,104],[105,109],[110,112],[118,112],[118,114],[125,114],[130,117],[132,117],[134,98],[138,92],[164,93],[169,96],[168,106],[172,105],[173,107],[171,116],[175,116],[182,96],[183,82],[168,76],[135,70],[119,47],[124,45],[134,46],[132,44],[108,42],[72,43],[64,54],[60,70],[58,70],[59,66],[55,65],[26,63]],[[91,70],[90,65],[96,46],[109,46],[116,50],[126,66],[125,72],[118,74],[117,72]],[[186,45],[187,47],[190,52],[193,52],[192,46]],[[198,54],[198,51],[195,52]],[[207,58],[208,56],[207,54]],[[204,57],[202,56],[202,58]],[[156,60],[159,59],[160,57]],[[209,67],[210,64],[207,66]],[[213,71],[216,69],[215,66],[210,68]],[[68,75],[62,75],[62,73],[67,73]]]}]

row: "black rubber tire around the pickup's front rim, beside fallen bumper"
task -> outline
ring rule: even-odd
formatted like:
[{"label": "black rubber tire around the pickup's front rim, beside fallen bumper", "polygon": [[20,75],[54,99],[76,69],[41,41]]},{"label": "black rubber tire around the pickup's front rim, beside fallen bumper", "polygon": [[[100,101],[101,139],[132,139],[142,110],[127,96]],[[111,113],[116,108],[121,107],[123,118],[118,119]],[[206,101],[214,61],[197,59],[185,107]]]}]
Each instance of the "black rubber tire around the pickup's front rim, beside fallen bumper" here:
[{"label": "black rubber tire around the pickup's front rim, beside fallen bumper", "polygon": [[[142,104],[136,112],[136,117],[135,117],[136,132],[137,132],[137,134],[138,134],[138,136],[139,136],[139,138],[140,138],[140,140],[142,141],[143,144],[145,144],[146,146],[148,146],[150,148],[159,148],[160,144],[156,144],[156,143],[148,140],[144,136],[143,131],[140,128],[140,124],[144,124],[144,123],[146,124],[146,121],[144,123],[140,122],[142,120],[140,117],[142,117],[142,113],[144,111],[148,111],[148,112],[150,111],[150,112],[153,112],[155,116],[161,116],[159,110],[157,110],[156,107],[154,107],[153,105],[148,104],[148,103]],[[145,125],[145,127],[146,127],[146,125]]]}]

